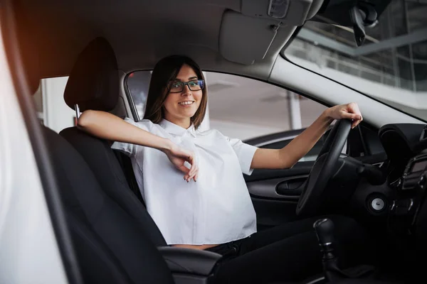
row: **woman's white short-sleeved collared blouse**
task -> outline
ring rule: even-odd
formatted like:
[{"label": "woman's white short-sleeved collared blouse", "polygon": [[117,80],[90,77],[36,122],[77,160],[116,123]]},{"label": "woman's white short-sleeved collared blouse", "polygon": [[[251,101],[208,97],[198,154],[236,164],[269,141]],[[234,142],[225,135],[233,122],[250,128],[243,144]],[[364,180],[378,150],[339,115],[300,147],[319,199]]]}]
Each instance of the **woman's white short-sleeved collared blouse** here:
[{"label": "woman's white short-sleeved collared blouse", "polygon": [[196,153],[199,177],[186,182],[161,151],[112,145],[130,156],[147,211],[167,244],[223,244],[255,233],[255,209],[242,173],[251,175],[256,147],[216,130],[184,129],[167,120],[125,121]]}]

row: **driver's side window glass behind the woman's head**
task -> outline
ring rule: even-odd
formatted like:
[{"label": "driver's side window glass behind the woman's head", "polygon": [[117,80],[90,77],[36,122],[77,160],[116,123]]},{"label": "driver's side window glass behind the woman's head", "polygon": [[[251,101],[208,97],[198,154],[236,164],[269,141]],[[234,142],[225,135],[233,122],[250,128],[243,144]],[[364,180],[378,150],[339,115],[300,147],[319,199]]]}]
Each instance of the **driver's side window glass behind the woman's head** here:
[{"label": "driver's side window glass behind the woman's head", "polygon": [[[295,130],[310,126],[326,109],[322,104],[273,84],[218,72],[204,74],[209,90],[204,127],[217,129],[232,138],[251,141],[254,146],[285,146],[295,137]],[[132,72],[125,82],[135,103],[137,119],[144,116],[150,76],[149,71]],[[268,138],[272,133],[279,134]],[[316,157],[317,148],[308,154],[310,159]]]}]

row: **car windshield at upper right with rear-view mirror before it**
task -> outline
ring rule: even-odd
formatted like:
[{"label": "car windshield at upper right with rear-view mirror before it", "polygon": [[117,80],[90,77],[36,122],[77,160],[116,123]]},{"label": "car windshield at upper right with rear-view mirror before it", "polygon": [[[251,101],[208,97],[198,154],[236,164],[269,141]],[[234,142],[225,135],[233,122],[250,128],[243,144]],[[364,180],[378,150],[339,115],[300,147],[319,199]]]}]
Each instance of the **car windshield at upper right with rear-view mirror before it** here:
[{"label": "car windshield at upper right with rear-view mirror before it", "polygon": [[359,47],[352,28],[307,21],[284,55],[427,121],[426,15],[426,1],[392,0]]}]

